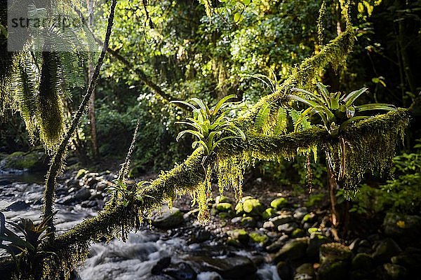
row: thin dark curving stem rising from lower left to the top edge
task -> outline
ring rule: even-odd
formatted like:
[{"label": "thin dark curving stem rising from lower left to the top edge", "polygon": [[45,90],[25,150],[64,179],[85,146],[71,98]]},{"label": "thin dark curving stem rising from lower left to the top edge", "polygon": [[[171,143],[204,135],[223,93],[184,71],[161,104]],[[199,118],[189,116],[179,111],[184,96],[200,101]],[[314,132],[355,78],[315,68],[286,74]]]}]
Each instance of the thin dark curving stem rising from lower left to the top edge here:
[{"label": "thin dark curving stem rising from lower left to the top edge", "polygon": [[[58,174],[62,171],[62,165],[63,165],[63,162],[65,161],[65,156],[67,152],[67,146],[69,145],[69,140],[74,134],[74,132],[76,131],[77,126],[79,125],[79,121],[81,119],[83,111],[85,111],[86,109],[86,106],[89,102],[91,94],[93,90],[95,90],[95,85],[100,76],[100,69],[104,62],[105,53],[107,52],[109,38],[111,36],[112,26],[114,23],[114,12],[116,8],[116,2],[117,2],[116,0],[112,0],[111,6],[110,6],[105,40],[103,43],[100,57],[98,59],[98,63],[96,64],[95,71],[92,76],[91,82],[89,83],[88,90],[86,90],[86,94],[83,97],[81,104],[79,105],[79,109],[78,111],[76,111],[72,119],[72,124],[70,125],[69,130],[65,134],[65,137],[63,137],[62,141],[60,141],[60,145],[58,146],[58,149],[55,152],[53,159],[51,160],[50,168],[48,170],[47,179],[46,179],[46,189],[44,192],[44,209],[43,209],[44,218],[51,216],[53,214],[53,207],[54,207],[54,202],[55,202],[55,186],[57,184]],[[48,232],[55,232],[53,219],[51,219],[48,222]],[[53,235],[51,235],[51,239],[53,238],[54,238]]]}]

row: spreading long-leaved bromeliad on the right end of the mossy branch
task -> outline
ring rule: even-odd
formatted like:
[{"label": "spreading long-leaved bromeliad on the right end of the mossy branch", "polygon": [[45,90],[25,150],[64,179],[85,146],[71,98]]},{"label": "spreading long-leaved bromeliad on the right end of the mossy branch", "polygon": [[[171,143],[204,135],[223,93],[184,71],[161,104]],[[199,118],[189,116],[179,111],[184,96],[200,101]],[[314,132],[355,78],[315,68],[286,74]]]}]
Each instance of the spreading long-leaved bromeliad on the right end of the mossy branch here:
[{"label": "spreading long-leaved bromeliad on the right end of the mossy branch", "polygon": [[370,116],[356,116],[356,113],[377,110],[396,111],[394,105],[384,103],[354,106],[356,99],[368,90],[367,87],[354,90],[353,92],[349,92],[349,94],[342,94],[341,92],[329,92],[326,85],[323,85],[322,83],[316,83],[316,85],[320,94],[314,94],[313,92],[300,88],[291,89],[291,91],[300,92],[304,94],[304,96],[289,94],[290,99],[294,99],[309,106],[309,108],[301,113],[299,120],[295,124],[295,131],[297,130],[298,125],[300,125],[300,120],[305,119],[307,115],[313,113],[317,113],[320,116],[323,125],[326,127],[329,134],[336,137],[340,130],[347,127],[349,123],[356,120],[371,118]]}]

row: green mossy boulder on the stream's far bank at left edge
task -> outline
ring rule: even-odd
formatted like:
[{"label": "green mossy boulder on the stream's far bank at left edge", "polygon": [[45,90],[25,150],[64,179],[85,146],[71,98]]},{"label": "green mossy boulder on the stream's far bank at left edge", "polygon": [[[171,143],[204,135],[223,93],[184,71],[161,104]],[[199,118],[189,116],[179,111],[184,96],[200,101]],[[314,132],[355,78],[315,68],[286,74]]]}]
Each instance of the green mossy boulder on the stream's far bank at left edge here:
[{"label": "green mossy boulder on the stream's far bank at left edge", "polygon": [[41,172],[48,169],[48,158],[44,149],[35,149],[27,153],[11,153],[4,160],[6,169],[26,170],[28,172]]}]

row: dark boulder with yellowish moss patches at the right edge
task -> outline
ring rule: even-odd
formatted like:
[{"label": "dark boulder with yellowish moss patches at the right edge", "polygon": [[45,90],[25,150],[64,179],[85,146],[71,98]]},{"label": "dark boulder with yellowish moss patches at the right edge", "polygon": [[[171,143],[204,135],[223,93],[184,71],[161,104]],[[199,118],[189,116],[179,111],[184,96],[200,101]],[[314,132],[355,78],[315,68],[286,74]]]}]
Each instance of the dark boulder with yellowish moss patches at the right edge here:
[{"label": "dark boulder with yellowish moss patches at the right edge", "polygon": [[398,243],[410,245],[420,243],[421,216],[410,216],[389,212],[383,220],[385,235],[392,237]]}]

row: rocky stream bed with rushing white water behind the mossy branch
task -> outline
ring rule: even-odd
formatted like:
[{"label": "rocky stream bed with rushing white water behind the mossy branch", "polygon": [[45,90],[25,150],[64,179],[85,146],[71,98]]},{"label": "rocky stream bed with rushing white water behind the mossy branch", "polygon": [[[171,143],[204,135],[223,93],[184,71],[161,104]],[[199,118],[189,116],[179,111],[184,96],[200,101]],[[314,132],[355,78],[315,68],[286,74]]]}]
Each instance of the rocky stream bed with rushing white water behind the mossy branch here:
[{"label": "rocky stream bed with rushing white water behind the mossy branch", "polygon": [[[93,217],[102,208],[105,195],[95,189],[74,189],[74,175],[65,174],[57,190],[58,234],[83,219]],[[108,176],[108,177],[107,177]],[[112,181],[112,174],[102,177]],[[44,174],[0,174],[0,211],[8,221],[41,216]],[[95,182],[98,185],[98,182]],[[193,211],[194,213],[194,211]],[[189,214],[185,213],[185,218]],[[220,225],[200,225],[195,215],[177,228],[152,229],[145,225],[123,242],[92,244],[88,259],[76,268],[83,280],[131,279],[267,279],[280,280],[276,266],[259,248],[226,246]],[[203,238],[203,235],[205,238]],[[192,236],[197,238],[192,239]],[[5,255],[0,251],[0,255]]]}]

